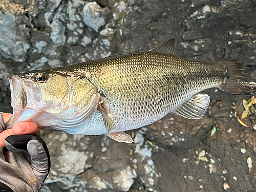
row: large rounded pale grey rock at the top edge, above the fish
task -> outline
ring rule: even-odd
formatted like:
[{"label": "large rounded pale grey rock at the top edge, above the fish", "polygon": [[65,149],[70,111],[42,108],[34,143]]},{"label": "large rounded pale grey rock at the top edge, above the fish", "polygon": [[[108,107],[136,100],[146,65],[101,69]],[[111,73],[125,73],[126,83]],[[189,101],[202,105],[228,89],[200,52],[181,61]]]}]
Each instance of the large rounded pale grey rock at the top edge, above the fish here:
[{"label": "large rounded pale grey rock at the top edge, above the fish", "polygon": [[106,24],[110,13],[109,8],[101,8],[96,2],[90,2],[83,7],[83,22],[98,32]]}]

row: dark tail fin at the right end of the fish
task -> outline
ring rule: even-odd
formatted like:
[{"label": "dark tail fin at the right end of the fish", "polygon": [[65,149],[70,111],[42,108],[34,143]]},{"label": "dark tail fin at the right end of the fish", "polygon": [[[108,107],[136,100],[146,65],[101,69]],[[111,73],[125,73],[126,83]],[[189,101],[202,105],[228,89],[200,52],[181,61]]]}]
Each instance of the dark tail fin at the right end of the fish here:
[{"label": "dark tail fin at the right end of the fish", "polygon": [[231,94],[249,95],[256,92],[256,83],[247,82],[243,65],[239,61],[221,61],[225,70],[224,81],[220,89]]}]

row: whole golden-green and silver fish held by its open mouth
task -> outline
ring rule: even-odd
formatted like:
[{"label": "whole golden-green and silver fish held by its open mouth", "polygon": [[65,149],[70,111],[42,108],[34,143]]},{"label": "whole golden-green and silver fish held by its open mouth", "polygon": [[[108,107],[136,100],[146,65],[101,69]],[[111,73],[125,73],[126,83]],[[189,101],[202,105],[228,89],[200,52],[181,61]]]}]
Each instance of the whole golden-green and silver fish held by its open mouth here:
[{"label": "whole golden-green and silver fish held by its open mouth", "polygon": [[105,134],[125,143],[133,139],[124,131],[156,122],[168,113],[202,118],[210,102],[209,95],[200,93],[206,89],[241,95],[256,91],[241,62],[183,59],[176,53],[174,39],[146,52],[8,78],[13,108],[9,126],[33,121],[40,129]]}]

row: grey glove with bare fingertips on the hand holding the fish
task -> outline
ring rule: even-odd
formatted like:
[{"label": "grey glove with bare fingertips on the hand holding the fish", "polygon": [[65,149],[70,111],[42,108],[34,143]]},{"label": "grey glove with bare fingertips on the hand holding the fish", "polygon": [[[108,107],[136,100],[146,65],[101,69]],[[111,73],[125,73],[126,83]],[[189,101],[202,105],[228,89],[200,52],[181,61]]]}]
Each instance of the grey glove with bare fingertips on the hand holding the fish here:
[{"label": "grey glove with bare fingertips on the hand holding the fish", "polygon": [[[0,113],[0,133],[5,130]],[[44,140],[34,135],[11,135],[0,146],[0,191],[38,192],[50,171]]]}]

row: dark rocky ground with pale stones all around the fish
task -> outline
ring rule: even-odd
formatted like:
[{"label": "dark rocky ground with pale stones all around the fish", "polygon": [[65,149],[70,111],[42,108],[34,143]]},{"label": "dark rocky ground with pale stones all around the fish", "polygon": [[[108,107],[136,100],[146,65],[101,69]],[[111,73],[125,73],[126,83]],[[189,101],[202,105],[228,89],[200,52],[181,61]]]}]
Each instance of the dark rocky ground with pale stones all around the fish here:
[{"label": "dark rocky ground with pale stones all around the fish", "polygon": [[[2,0],[1,111],[11,112],[9,74],[146,51],[170,38],[187,59],[240,60],[256,81],[255,1]],[[255,116],[243,119],[247,126],[237,119],[250,96],[206,93],[204,118],[169,114],[129,132],[130,145],[42,132],[52,167],[41,192],[256,191]]]}]

